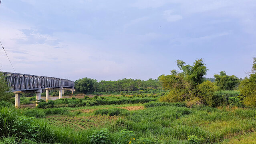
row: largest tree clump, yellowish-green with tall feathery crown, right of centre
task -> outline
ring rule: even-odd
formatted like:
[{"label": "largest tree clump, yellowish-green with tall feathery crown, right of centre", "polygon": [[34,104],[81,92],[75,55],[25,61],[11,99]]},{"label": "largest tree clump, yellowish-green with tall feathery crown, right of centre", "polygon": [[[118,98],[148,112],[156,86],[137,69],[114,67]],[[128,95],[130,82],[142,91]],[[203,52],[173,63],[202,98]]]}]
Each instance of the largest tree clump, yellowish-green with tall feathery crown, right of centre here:
[{"label": "largest tree clump, yellowish-green with tall feathery crown, right of centre", "polygon": [[161,101],[165,102],[183,102],[198,97],[198,85],[204,82],[204,77],[208,68],[202,59],[196,60],[191,66],[185,64],[182,60],[177,60],[177,67],[182,72],[171,70],[171,75],[162,75],[159,80],[163,89],[169,90],[169,94],[161,97]]}]

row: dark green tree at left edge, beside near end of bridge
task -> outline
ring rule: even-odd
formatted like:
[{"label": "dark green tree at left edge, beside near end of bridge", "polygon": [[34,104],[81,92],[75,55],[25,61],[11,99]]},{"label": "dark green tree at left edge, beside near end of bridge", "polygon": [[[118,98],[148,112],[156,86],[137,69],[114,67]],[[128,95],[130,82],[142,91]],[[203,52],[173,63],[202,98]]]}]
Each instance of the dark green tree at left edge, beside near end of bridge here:
[{"label": "dark green tree at left edge, beside near end of bridge", "polygon": [[0,100],[9,100],[12,97],[12,92],[8,87],[4,74],[0,72]]}]

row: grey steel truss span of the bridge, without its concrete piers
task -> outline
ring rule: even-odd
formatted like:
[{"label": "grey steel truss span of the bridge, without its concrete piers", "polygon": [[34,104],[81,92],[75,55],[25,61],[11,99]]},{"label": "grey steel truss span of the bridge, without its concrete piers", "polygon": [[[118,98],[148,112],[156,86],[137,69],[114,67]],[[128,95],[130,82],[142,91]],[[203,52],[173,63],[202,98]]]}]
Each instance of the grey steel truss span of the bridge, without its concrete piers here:
[{"label": "grey steel truss span of the bridge, without its concrete piers", "polygon": [[40,88],[72,88],[75,83],[71,80],[53,78],[48,76],[35,76],[30,74],[18,74],[3,72],[6,82],[12,91],[38,90]]}]

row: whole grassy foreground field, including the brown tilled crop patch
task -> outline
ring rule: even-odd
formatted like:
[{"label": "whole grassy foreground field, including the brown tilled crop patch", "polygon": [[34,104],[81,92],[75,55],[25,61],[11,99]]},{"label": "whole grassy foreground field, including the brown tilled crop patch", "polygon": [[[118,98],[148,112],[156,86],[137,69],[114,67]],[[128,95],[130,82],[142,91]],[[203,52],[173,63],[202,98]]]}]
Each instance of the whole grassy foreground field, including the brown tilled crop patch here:
[{"label": "whole grassy foreground field, including the brown tilled crop patch", "polygon": [[[184,103],[158,102],[157,99],[154,96],[137,95],[69,98],[56,100],[45,108],[20,109],[1,103],[1,114],[6,116],[0,117],[7,118],[7,121],[10,119],[10,128],[5,127],[7,132],[6,128],[9,128],[10,134],[2,133],[8,138],[3,137],[0,143],[16,144],[16,141],[21,144],[24,140],[30,140],[23,143],[94,144],[93,136],[106,138],[106,144],[255,142],[255,109],[202,105],[188,108]],[[30,125],[33,127],[30,128]],[[0,123],[0,128],[4,130],[1,126],[4,124]],[[28,136],[16,135],[12,126],[20,126],[17,130],[28,133]],[[36,135],[23,131],[27,129]]]}]

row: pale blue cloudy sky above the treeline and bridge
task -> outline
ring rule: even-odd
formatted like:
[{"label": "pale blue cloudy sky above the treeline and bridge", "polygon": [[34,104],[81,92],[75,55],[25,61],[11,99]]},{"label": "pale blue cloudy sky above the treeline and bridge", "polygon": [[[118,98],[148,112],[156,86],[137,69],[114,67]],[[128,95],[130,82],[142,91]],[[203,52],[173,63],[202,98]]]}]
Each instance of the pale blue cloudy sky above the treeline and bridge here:
[{"label": "pale blue cloudy sky above the treeline and bridge", "polygon": [[[202,58],[244,78],[256,57],[255,0],[2,0],[0,41],[17,73],[147,80]],[[0,71],[13,72],[0,50]]]}]

